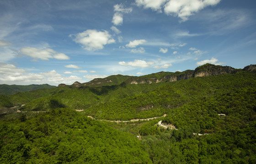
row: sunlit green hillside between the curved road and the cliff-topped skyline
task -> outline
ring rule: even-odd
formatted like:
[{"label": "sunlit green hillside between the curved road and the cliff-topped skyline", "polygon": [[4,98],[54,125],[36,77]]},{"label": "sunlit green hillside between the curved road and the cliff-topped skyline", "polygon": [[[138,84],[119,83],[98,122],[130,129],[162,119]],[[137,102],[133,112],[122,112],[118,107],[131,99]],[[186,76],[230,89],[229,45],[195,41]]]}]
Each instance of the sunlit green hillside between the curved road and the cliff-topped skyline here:
[{"label": "sunlit green hillside between the curved road and the cliff-topped skyline", "polygon": [[[21,101],[19,104],[26,103],[21,108],[24,111],[47,111],[49,108],[67,107],[85,109],[86,114],[96,118],[147,118],[162,115],[166,109],[179,107],[192,101],[193,97],[211,96],[212,93],[209,94],[209,91],[220,92],[226,87],[220,87],[218,83],[221,81],[227,83],[230,78],[234,78],[235,81],[243,76],[248,76],[252,80],[255,74],[246,72],[232,67],[206,64],[194,71],[158,72],[140,77],[114,75],[87,83],[61,84],[55,89],[47,90],[48,95],[43,95],[45,92],[37,92],[39,94],[35,96],[34,92],[26,92],[24,95],[12,95],[10,99],[16,105],[18,101]],[[213,79],[216,79],[216,82],[208,82]],[[110,85],[111,83],[115,85]],[[125,116],[120,115],[120,109],[125,111]],[[98,111],[102,110],[108,113],[99,114]]]}]

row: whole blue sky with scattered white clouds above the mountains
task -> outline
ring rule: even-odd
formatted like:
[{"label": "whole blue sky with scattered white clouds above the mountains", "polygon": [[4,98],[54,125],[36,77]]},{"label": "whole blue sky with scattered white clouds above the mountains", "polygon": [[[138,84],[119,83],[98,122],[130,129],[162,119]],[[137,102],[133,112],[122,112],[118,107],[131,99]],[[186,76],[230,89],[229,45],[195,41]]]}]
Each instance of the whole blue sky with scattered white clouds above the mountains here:
[{"label": "whole blue sky with scattered white clouds above the mountains", "polygon": [[0,84],[256,64],[255,0],[0,0]]}]

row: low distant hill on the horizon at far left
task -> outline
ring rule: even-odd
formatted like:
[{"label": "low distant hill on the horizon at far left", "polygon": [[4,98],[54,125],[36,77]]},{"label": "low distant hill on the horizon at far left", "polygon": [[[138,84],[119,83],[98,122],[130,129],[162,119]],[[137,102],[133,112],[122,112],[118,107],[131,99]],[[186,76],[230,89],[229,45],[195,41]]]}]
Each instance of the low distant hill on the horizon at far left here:
[{"label": "low distant hill on the horizon at far left", "polygon": [[0,95],[12,95],[19,92],[27,92],[33,91],[37,89],[43,88],[54,88],[56,86],[51,86],[49,84],[41,84],[41,85],[7,85],[7,84],[0,84]]}]

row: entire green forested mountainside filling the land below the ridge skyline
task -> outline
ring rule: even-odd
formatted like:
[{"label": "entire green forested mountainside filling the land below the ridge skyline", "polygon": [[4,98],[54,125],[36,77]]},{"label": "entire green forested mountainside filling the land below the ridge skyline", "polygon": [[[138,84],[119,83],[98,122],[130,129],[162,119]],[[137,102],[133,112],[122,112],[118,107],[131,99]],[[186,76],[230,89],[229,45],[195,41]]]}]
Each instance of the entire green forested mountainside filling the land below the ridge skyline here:
[{"label": "entire green forested mountainside filling the land below the ridge skyline", "polygon": [[206,64],[0,95],[0,163],[255,164],[255,67]]}]

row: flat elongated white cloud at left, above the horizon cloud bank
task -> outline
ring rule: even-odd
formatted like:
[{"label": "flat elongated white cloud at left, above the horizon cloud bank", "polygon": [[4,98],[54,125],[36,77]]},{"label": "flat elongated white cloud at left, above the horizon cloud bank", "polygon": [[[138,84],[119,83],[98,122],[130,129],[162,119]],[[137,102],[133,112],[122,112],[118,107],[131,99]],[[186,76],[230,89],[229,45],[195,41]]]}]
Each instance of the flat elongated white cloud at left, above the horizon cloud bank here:
[{"label": "flat elongated white cloud at left, above the horizon cloud bank", "polygon": [[23,47],[21,48],[21,53],[32,58],[49,60],[49,58],[55,58],[58,60],[69,60],[69,56],[64,53],[59,53],[50,48],[38,49],[34,47]]}]

